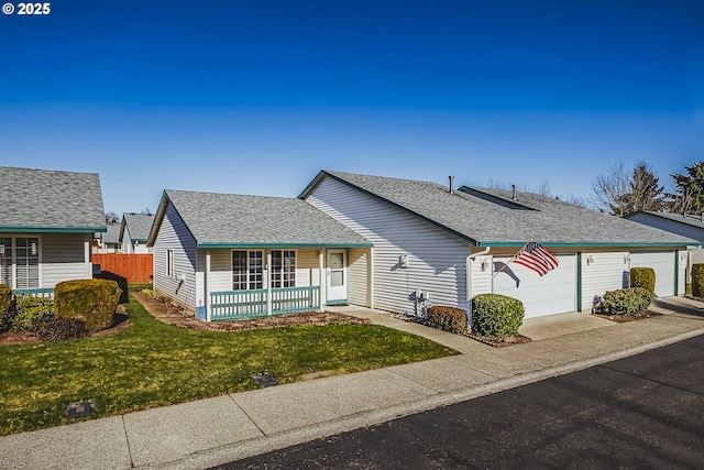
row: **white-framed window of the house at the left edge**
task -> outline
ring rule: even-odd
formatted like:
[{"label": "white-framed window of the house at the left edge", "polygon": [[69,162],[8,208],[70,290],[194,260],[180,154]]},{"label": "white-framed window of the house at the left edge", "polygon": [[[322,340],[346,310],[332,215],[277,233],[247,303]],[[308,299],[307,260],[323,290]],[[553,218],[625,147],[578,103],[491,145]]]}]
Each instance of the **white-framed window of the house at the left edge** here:
[{"label": "white-framed window of the house at the left edge", "polygon": [[10,288],[40,286],[38,237],[0,238],[0,284]]}]

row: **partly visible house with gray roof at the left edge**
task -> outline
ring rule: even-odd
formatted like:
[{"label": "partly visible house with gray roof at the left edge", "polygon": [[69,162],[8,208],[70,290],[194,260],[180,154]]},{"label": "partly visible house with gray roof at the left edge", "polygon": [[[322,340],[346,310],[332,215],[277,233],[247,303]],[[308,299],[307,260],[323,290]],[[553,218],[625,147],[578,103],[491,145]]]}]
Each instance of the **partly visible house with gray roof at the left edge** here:
[{"label": "partly visible house with gray roof at the left edge", "polygon": [[0,283],[42,292],[92,277],[92,233],[106,230],[97,174],[0,167]]}]

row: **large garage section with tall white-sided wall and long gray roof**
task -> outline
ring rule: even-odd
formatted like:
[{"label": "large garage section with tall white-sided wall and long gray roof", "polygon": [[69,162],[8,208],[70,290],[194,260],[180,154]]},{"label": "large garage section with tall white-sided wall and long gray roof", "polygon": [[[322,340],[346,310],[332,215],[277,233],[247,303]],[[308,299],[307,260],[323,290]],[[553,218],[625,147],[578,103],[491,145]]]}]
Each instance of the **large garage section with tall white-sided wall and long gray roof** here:
[{"label": "large garage section with tall white-sided wall and long gray roof", "polygon": [[[627,286],[632,266],[656,270],[659,296],[683,294],[685,250],[695,243],[527,193],[322,171],[299,198],[374,244],[371,271],[346,261],[349,284],[367,289],[349,302],[406,314],[429,305],[469,311],[483,293],[520,299],[526,317],[588,309]],[[540,277],[509,263],[530,240],[559,267]]]}]

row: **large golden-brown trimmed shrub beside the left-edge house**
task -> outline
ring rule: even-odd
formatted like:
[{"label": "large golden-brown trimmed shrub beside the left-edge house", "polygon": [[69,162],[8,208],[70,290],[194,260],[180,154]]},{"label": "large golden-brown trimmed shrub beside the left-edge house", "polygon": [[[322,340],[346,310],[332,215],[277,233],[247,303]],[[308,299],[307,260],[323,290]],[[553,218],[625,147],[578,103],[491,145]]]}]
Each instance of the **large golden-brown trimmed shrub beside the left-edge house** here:
[{"label": "large golden-brown trimmed shrub beside the left-edge house", "polygon": [[59,283],[54,288],[56,317],[81,317],[88,331],[96,332],[112,325],[122,291],[109,280],[78,280]]}]

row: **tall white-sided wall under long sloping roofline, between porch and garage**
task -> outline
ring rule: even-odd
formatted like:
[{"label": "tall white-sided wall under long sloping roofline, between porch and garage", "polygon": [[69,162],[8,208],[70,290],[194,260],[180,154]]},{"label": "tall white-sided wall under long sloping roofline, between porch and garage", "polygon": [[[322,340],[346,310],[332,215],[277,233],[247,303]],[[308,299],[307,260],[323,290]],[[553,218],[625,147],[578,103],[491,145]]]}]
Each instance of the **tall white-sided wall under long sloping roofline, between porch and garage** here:
[{"label": "tall white-sided wall under long sloping roofline, between porch and garage", "polygon": [[[422,291],[429,293],[432,305],[466,309],[468,243],[328,177],[306,200],[374,243],[374,308],[415,314],[414,292]],[[408,255],[408,267],[399,264],[404,254]],[[359,292],[361,287],[353,283],[361,281],[350,277],[348,288]]]}]

